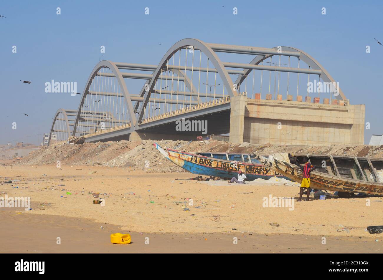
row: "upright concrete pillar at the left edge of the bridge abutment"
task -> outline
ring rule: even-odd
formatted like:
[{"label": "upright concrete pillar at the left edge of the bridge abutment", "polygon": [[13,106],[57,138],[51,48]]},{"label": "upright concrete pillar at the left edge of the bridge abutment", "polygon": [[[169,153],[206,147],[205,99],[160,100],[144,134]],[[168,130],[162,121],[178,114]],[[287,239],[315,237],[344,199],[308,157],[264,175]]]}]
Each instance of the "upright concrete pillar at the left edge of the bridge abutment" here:
[{"label": "upright concrete pillar at the left edge of the bridge abutment", "polygon": [[230,137],[233,143],[243,143],[245,125],[245,107],[247,97],[237,95],[230,99]]}]

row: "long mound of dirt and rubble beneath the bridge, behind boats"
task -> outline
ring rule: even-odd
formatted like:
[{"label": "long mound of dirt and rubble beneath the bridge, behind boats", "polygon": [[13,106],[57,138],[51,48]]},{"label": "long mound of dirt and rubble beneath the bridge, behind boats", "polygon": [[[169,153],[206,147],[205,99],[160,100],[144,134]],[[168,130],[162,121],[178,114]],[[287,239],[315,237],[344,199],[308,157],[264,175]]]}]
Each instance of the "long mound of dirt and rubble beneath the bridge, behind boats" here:
[{"label": "long mound of dirt and rubble beneath the bridge, behind boats", "polygon": [[101,165],[111,167],[133,167],[146,169],[148,172],[174,172],[183,171],[166,160],[153,146],[157,142],[162,148],[188,152],[215,152],[215,153],[254,153],[270,155],[278,152],[305,153],[311,155],[348,155],[369,156],[383,158],[382,146],[347,146],[332,145],[327,147],[313,146],[286,146],[286,145],[254,145],[250,143],[229,143],[223,141],[118,141],[98,142],[84,144],[62,144],[44,147],[29,153],[15,165],[44,165],[44,164],[69,164],[69,165]]}]

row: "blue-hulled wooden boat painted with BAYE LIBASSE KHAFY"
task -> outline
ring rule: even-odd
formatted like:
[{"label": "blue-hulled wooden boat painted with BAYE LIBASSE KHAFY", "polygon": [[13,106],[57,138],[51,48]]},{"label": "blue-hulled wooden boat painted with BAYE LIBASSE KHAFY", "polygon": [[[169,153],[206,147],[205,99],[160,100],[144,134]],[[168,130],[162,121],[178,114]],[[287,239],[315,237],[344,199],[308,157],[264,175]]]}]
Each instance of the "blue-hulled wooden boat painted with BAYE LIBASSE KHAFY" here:
[{"label": "blue-hulled wooden boat painted with BAYE LIBASSE KHAFY", "polygon": [[[165,151],[157,143],[154,143],[154,147],[157,148],[157,150],[159,150],[165,158],[193,174],[231,179],[232,177],[236,177],[238,171],[241,170],[244,174],[246,174],[247,181],[252,181],[258,178],[270,179],[274,176],[288,179],[288,177],[283,176],[278,173],[278,171],[276,172],[265,166],[263,163],[260,163],[259,160],[255,158],[251,159],[250,155],[247,155],[247,161],[231,161],[227,160],[227,158],[213,158],[211,156],[204,156],[197,153],[187,153],[169,148]],[[241,158],[243,157],[244,155],[241,154]]]}]

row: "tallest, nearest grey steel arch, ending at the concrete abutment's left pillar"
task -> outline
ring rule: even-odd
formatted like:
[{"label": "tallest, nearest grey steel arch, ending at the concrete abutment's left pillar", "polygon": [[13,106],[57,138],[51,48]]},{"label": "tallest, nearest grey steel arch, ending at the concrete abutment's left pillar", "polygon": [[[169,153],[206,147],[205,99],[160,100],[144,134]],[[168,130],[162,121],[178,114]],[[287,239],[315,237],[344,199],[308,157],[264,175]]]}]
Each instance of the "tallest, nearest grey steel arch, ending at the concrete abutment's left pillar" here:
[{"label": "tallest, nearest grey steel arch, ending at the concrete abutment's left pillar", "polygon": [[166,52],[164,57],[162,57],[157,69],[153,72],[153,78],[149,83],[148,90],[144,94],[144,100],[141,103],[140,111],[139,111],[139,117],[136,120],[136,129],[138,128],[138,124],[142,121],[142,118],[144,117],[143,114],[143,108],[146,107],[147,102],[149,100],[149,93],[153,90],[154,87],[154,81],[157,80],[159,77],[160,70],[166,65],[168,59],[172,57],[173,54],[175,54],[178,50],[182,49],[183,47],[187,46],[193,46],[196,49],[201,50],[210,60],[211,63],[213,63],[214,67],[217,70],[217,73],[221,77],[224,86],[226,87],[226,90],[229,93],[229,96],[235,96],[237,95],[237,92],[234,91],[234,86],[231,78],[229,77],[229,73],[227,72],[226,68],[223,66],[223,63],[219,59],[218,55],[214,52],[214,50],[211,49],[205,42],[202,42],[201,40],[198,39],[192,39],[192,38],[187,38],[187,39],[182,39],[175,43],[170,49]]}]

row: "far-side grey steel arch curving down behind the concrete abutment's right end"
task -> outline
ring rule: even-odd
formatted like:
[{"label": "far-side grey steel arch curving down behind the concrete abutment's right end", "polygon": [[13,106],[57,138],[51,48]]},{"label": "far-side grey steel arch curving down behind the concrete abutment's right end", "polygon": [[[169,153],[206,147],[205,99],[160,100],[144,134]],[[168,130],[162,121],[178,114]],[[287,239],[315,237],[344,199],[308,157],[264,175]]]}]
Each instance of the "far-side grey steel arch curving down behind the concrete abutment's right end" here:
[{"label": "far-side grey steel arch curving down behind the concrete abutment's right end", "polygon": [[[277,50],[278,47],[274,47],[273,49]],[[324,82],[335,83],[335,80],[331,77],[329,72],[327,72],[327,70],[324,69],[324,67],[321,64],[319,64],[319,62],[316,59],[314,59],[311,55],[309,55],[308,53],[303,52],[302,50],[299,50],[299,49],[296,49],[296,48],[293,48],[293,47],[282,47],[281,50],[282,51],[300,52],[300,56],[299,56],[300,60],[305,62],[307,65],[309,65],[309,67],[311,67],[312,69],[316,69],[316,70],[321,70],[322,71],[322,74],[319,77],[321,77],[321,79]],[[257,55],[252,61],[249,62],[249,64],[257,65],[257,64],[261,63],[263,60],[268,59],[269,57],[272,57],[273,55],[277,55],[277,54]],[[244,69],[244,74],[242,75],[242,77],[238,77],[237,78],[237,80],[235,81],[235,84],[237,85],[238,88],[241,85],[242,81],[245,80],[246,76],[251,71],[252,71],[252,69]],[[343,94],[343,91],[340,89],[340,87],[337,90],[339,91],[339,95],[335,96],[337,99],[342,99],[342,100],[347,99],[345,97],[345,95]]]}]

